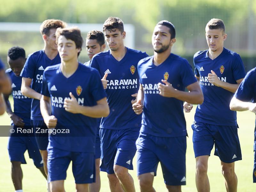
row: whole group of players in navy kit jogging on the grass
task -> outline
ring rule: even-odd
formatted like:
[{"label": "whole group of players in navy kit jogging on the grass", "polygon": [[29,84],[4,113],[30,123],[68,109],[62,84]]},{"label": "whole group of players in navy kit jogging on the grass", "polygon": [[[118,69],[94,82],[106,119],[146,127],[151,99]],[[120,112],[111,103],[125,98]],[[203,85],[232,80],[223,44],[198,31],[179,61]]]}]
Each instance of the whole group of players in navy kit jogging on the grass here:
[{"label": "whole group of players in navy kit jogging on the grass", "polygon": [[[125,47],[123,21],[109,17],[103,33],[87,34],[90,61],[84,64],[77,59],[83,44],[78,28],[45,20],[40,30],[44,49],[26,59],[23,48],[12,47],[8,75],[0,68],[5,100],[0,98],[0,112],[6,105],[15,130],[8,151],[16,192],[22,192],[20,164],[26,163],[26,150],[52,192],[65,191],[71,161],[76,191],[100,191],[103,171],[112,192],[133,192],[128,170],[133,169],[136,151],[140,191],[155,191],[153,180],[160,162],[166,188],[180,192],[186,185],[183,109],[190,112],[192,104],[198,104],[192,124],[197,190],[210,191],[207,167],[214,144],[226,189],[237,190],[234,162],[242,155],[232,110],[256,113],[256,68],[245,76],[240,56],[224,48],[227,34],[222,20],[207,23],[209,49],[194,55],[195,73],[186,59],[171,53],[175,28],[167,20],[154,28],[154,55],[149,57]],[[104,52],[105,40],[109,50]],[[8,101],[11,88],[14,112]],[[19,133],[20,127],[26,132]]]}]

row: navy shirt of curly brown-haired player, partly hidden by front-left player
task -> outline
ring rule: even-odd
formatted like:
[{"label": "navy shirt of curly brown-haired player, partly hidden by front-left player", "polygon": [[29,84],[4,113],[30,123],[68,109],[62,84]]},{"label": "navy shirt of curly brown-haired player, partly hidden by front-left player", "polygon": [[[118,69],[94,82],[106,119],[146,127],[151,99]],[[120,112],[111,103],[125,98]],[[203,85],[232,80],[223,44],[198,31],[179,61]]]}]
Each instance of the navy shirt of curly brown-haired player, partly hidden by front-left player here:
[{"label": "navy shirt of curly brown-haired player, partly hidden by front-left player", "polygon": [[[20,76],[32,79],[32,89],[38,93],[41,93],[43,73],[44,69],[48,66],[56,65],[60,63],[60,55],[50,60],[44,53],[44,50],[40,50],[28,55],[28,59],[24,68],[21,71]],[[32,99],[31,104],[31,119],[43,120],[40,111],[40,100]]]}]

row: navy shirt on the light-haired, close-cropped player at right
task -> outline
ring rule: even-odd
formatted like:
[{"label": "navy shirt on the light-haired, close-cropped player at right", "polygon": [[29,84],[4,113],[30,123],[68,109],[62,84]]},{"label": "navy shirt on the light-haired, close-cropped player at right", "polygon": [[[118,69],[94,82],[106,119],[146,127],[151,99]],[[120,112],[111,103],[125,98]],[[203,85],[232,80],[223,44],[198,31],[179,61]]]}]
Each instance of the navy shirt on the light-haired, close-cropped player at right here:
[{"label": "navy shirt on the light-haired, close-cropped player at right", "polygon": [[245,70],[240,56],[226,48],[214,60],[208,57],[208,50],[194,55],[195,74],[200,77],[200,87],[204,103],[198,105],[195,121],[214,125],[237,126],[236,111],[229,109],[234,93],[208,82],[208,74],[213,70],[221,81],[236,84],[244,78]]}]

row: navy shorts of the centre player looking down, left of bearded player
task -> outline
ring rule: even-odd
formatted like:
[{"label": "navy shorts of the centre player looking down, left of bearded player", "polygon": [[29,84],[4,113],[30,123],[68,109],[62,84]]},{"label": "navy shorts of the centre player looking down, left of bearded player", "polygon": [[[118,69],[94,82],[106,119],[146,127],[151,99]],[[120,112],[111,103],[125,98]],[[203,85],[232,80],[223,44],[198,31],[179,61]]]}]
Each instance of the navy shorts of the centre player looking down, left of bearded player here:
[{"label": "navy shorts of the centre player looking down, left of bearded player", "polygon": [[114,174],[114,165],[133,170],[132,159],[136,153],[135,142],[139,131],[140,128],[100,129],[100,171]]}]

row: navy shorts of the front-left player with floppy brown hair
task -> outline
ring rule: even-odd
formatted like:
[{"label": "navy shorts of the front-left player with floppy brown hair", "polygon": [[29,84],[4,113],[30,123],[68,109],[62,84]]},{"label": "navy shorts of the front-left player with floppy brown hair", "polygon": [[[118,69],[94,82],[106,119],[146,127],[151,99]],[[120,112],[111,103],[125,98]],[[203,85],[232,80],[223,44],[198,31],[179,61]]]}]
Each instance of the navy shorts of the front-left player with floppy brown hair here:
[{"label": "navy shorts of the front-left player with floppy brown hair", "polygon": [[58,148],[48,148],[47,152],[48,182],[65,180],[71,161],[76,184],[95,182],[94,153],[72,152]]}]

